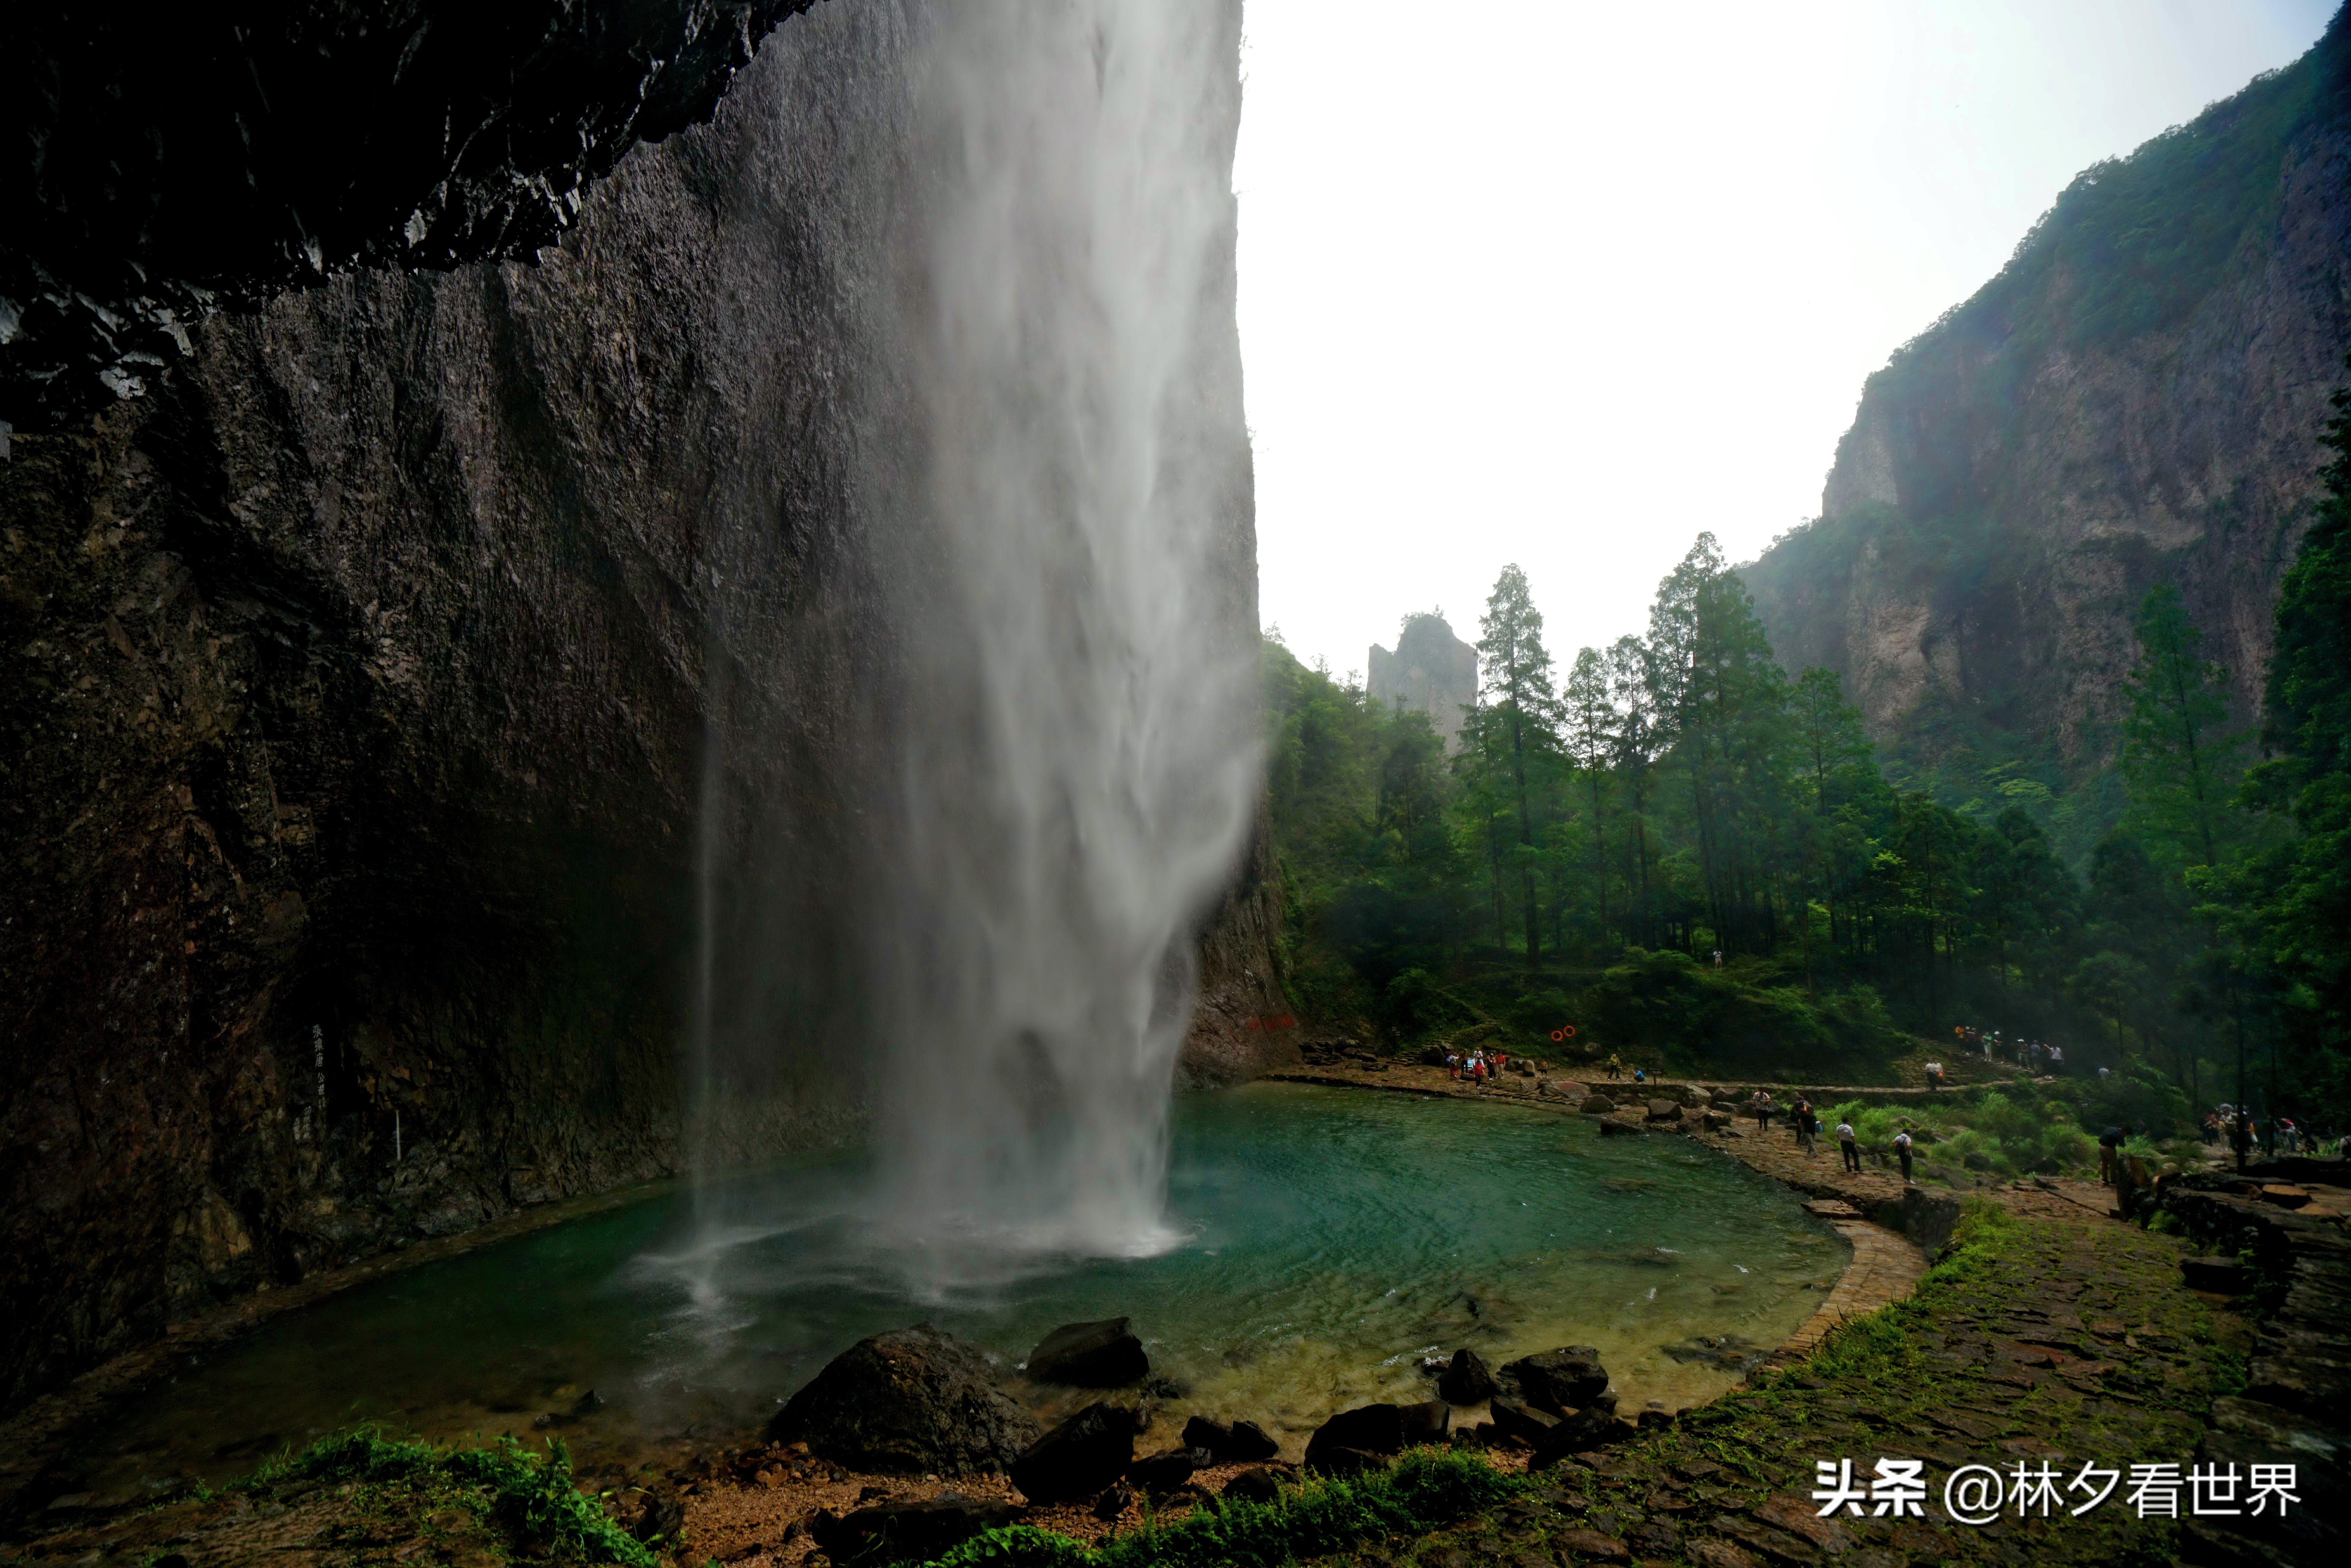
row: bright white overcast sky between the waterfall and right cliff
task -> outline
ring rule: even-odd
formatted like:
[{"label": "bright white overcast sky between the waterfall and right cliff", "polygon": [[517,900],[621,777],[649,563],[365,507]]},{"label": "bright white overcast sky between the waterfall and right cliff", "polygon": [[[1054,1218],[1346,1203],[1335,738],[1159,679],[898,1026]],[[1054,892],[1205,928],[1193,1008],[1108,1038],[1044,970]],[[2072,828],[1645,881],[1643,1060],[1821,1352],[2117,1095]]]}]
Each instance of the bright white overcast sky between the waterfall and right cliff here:
[{"label": "bright white overcast sky between the waterfall and right cliff", "polygon": [[1505,562],[1552,654],[1820,510],[1862,378],[2335,0],[1248,0],[1262,621],[1335,672]]}]

